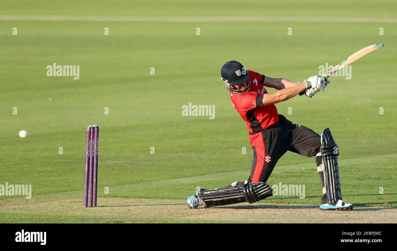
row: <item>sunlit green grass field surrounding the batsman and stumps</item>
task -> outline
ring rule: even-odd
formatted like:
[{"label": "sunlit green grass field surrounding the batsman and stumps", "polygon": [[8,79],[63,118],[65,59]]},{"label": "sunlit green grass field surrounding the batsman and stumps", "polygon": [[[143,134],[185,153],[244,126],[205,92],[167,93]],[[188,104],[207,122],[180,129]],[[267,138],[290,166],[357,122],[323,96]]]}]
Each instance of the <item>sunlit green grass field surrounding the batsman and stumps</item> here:
[{"label": "sunlit green grass field surrounding the batsman and stumps", "polygon": [[[286,222],[291,209],[314,215],[303,222],[334,218],[334,212],[318,216],[315,208],[322,194],[315,159],[295,153],[278,161],[268,183],[304,184],[305,199],[273,196],[208,213],[188,210],[185,199],[198,186],[223,187],[250,174],[247,129],[219,80],[226,61],[238,60],[270,77],[302,81],[317,74],[319,65],[335,65],[378,42],[385,47],[355,62],[350,80],[331,77],[324,93],[276,106],[293,123],[318,133],[330,127],[340,149],[343,199],[357,207],[340,212],[343,220],[395,220],[397,3],[333,5],[343,8],[318,12],[324,4],[314,1],[0,3],[0,184],[31,184],[33,190],[31,199],[0,196],[0,222]],[[227,14],[367,21],[205,21]],[[6,15],[186,20],[28,21]],[[189,19],[195,16],[204,19]],[[13,27],[17,35],[12,35]],[[287,35],[289,27],[292,35]],[[379,35],[381,27],[384,35]],[[46,66],[54,62],[79,65],[80,78],[47,77]],[[182,106],[189,103],[215,105],[215,119],[182,116]],[[105,107],[109,114],[104,114]],[[292,114],[287,114],[289,107]],[[83,209],[85,128],[91,124],[100,126],[101,207]],[[29,136],[19,138],[20,130]],[[155,154],[150,154],[151,147]],[[247,154],[241,153],[242,147]],[[271,218],[276,214],[270,210],[279,218]]]}]

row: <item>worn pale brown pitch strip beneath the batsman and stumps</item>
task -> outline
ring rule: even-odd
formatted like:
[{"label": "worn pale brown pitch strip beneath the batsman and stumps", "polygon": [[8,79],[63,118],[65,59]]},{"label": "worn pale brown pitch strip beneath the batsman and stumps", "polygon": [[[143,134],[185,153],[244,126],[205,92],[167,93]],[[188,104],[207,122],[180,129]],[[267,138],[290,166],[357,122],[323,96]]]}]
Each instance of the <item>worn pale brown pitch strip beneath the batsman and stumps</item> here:
[{"label": "worn pale brown pitch strip beneath the batsman and stumps", "polygon": [[64,223],[397,223],[395,207],[360,207],[352,211],[320,210],[318,205],[241,203],[188,209],[181,200],[101,198],[83,208],[81,200],[0,201],[1,222]]}]

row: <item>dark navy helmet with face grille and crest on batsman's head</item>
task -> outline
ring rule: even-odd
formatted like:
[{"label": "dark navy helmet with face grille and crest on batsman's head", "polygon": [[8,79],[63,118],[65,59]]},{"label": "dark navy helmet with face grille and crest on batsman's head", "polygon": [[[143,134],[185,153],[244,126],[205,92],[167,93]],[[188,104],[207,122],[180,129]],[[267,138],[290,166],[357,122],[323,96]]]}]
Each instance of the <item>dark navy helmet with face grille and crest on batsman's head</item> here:
[{"label": "dark navy helmet with face grille and crest on batsman's head", "polygon": [[222,66],[221,75],[221,80],[225,83],[226,88],[232,93],[246,93],[251,87],[251,82],[240,90],[236,90],[231,87],[231,85],[241,85],[245,81],[249,80],[250,77],[247,69],[235,60],[229,61]]}]

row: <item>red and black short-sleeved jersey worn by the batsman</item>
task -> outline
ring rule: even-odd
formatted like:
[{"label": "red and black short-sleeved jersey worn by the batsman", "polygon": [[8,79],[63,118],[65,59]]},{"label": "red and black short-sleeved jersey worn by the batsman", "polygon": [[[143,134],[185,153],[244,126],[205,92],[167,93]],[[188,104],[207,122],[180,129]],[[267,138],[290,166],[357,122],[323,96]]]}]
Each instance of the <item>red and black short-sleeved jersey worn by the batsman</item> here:
[{"label": "red and black short-sleeved jersey worn by the batsman", "polygon": [[250,89],[243,94],[230,92],[231,103],[241,118],[247,123],[249,134],[254,134],[278,122],[278,112],[274,104],[262,106],[263,95],[268,93],[262,85],[264,75],[247,70],[251,81]]}]

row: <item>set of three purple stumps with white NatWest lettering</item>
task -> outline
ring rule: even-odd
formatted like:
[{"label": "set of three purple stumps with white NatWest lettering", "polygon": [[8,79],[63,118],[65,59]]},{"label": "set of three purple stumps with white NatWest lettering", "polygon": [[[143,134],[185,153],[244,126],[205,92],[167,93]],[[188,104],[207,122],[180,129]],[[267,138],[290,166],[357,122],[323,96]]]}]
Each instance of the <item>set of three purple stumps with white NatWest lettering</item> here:
[{"label": "set of three purple stumps with white NatWest lettering", "polygon": [[85,144],[84,207],[96,207],[99,126],[87,127]]}]

